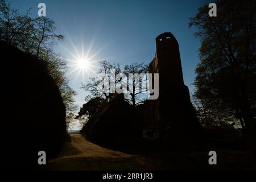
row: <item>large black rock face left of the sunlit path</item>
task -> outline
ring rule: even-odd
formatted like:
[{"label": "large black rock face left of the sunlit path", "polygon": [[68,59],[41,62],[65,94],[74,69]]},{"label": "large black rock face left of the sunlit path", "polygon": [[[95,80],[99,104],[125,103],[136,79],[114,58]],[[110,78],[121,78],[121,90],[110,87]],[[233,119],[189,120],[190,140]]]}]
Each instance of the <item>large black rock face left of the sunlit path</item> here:
[{"label": "large black rock face left of the sunlit path", "polygon": [[[38,167],[38,152],[52,158],[66,135],[65,105],[42,60],[0,42],[5,103],[1,152],[10,169]],[[2,70],[3,71],[3,70]]]}]

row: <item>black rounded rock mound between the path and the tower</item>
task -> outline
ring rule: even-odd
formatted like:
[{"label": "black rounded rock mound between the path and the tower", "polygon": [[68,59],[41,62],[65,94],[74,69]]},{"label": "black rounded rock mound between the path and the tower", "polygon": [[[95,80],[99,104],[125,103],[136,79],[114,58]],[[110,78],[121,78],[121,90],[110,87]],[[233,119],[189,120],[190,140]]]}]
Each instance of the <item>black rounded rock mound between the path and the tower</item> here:
[{"label": "black rounded rock mound between the path and the tower", "polygon": [[105,146],[128,146],[142,137],[135,109],[121,96],[112,96],[101,113],[89,119],[81,133]]}]

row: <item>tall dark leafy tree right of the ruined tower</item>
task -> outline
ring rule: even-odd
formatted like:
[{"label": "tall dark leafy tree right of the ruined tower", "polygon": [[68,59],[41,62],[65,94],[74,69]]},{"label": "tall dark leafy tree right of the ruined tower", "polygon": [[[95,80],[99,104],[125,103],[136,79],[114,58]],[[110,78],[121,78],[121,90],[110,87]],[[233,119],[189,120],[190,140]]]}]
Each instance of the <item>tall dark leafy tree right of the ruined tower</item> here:
[{"label": "tall dark leafy tree right of the ruined tower", "polygon": [[201,42],[195,97],[217,109],[220,118],[236,116],[248,130],[256,100],[255,3],[217,1],[216,17],[209,17],[205,5],[189,23],[199,28],[195,35]]}]

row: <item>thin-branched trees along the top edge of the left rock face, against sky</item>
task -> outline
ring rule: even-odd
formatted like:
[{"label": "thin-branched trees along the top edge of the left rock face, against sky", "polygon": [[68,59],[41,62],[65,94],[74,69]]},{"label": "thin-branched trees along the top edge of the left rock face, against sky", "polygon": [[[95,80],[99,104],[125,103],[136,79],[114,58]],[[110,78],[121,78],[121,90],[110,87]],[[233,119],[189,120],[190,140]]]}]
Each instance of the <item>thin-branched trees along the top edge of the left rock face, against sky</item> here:
[{"label": "thin-branched trees along the top edge of the left rock face, against sky", "polygon": [[0,0],[0,22],[0,39],[44,61],[49,75],[59,87],[67,110],[75,110],[73,96],[76,92],[69,86],[67,62],[52,48],[56,40],[64,39],[63,35],[55,34],[53,20],[46,17],[33,19],[30,10],[22,15],[10,3]]}]

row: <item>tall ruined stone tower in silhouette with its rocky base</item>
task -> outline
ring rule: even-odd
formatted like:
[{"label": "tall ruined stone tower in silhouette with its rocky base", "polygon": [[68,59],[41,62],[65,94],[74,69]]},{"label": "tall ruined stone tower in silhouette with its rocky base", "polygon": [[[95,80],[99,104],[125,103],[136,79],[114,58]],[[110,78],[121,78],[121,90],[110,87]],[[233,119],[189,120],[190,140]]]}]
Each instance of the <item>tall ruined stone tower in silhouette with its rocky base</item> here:
[{"label": "tall ruined stone tower in silhouette with its rocky base", "polygon": [[144,103],[151,117],[147,123],[159,139],[186,145],[199,138],[201,126],[183,81],[179,44],[170,32],[156,38],[156,54],[150,73],[159,73],[159,98]]}]

